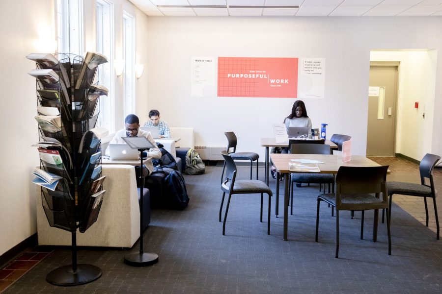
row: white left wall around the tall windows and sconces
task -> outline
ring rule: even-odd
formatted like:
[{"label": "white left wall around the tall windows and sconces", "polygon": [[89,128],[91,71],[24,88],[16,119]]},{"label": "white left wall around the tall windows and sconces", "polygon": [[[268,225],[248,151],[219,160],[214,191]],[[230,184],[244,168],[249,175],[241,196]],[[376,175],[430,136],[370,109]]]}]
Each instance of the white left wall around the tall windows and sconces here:
[{"label": "white left wall around the tall windows and sconces", "polygon": [[[137,18],[137,38],[146,34],[147,16],[127,0],[113,2],[115,52],[121,54],[123,9]],[[83,0],[84,52],[96,48],[95,5],[95,0]],[[27,74],[35,68],[35,63],[25,56],[30,52],[48,52],[53,49],[47,48],[47,45],[55,40],[54,0],[1,1],[0,20],[0,88],[3,102],[0,115],[3,134],[0,145],[1,255],[36,232],[36,187],[30,182],[33,178],[30,173],[39,164],[38,152],[35,147],[31,147],[38,141],[38,126],[34,119],[37,101],[35,78]],[[142,39],[136,47],[137,58],[144,63],[145,42]],[[121,128],[124,119],[121,78],[119,84],[117,78],[115,82],[115,124]],[[145,80],[138,82],[136,93],[146,96],[146,92]],[[141,98],[138,101],[145,103]]]}]

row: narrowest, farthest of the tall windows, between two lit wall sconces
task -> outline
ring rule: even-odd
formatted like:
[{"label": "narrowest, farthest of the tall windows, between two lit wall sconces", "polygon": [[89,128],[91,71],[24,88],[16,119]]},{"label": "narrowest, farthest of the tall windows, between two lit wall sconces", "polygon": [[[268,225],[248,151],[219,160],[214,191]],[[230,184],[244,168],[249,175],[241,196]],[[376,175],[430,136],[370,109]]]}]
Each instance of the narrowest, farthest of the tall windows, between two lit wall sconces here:
[{"label": "narrowest, farthest of the tall windows, between two lit wall sconces", "polygon": [[123,12],[123,114],[135,113],[135,19]]}]

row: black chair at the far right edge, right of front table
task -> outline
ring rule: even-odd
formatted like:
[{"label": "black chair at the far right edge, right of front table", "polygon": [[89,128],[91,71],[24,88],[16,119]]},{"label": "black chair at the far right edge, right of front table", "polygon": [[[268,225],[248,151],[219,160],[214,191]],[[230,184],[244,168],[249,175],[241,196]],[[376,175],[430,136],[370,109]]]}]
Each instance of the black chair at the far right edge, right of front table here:
[{"label": "black chair at the far right edge, right of front table", "polygon": [[[390,196],[389,209],[391,218],[391,199],[393,194],[423,197],[425,203],[426,226],[428,226],[428,206],[427,197],[433,198],[434,216],[436,218],[437,234],[436,239],[439,240],[439,218],[436,206],[437,190],[434,187],[433,170],[441,156],[427,153],[419,164],[420,182],[421,184],[406,182],[387,182],[387,191]],[[425,182],[429,179],[429,184]],[[382,212],[382,222],[384,222],[384,211]]]}]

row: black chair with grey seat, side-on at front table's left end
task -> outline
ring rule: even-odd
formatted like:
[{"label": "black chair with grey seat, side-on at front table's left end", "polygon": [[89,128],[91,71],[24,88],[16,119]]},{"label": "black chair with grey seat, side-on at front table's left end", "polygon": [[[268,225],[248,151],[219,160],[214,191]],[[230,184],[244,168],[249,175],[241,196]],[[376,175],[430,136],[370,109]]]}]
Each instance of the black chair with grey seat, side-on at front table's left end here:
[{"label": "black chair with grey seat, side-on at front table's left end", "polygon": [[260,180],[235,180],[236,178],[236,165],[232,157],[227,153],[227,151],[221,151],[222,157],[224,157],[224,162],[226,168],[225,179],[221,183],[222,199],[220,207],[220,222],[221,222],[221,212],[222,206],[224,204],[224,197],[227,193],[229,199],[227,200],[227,206],[225,208],[224,221],[222,223],[222,235],[225,235],[225,221],[227,219],[227,213],[229,211],[230,198],[233,194],[261,194],[261,217],[262,222],[262,200],[263,194],[267,193],[269,195],[269,211],[267,217],[267,235],[270,235],[270,204],[272,196],[272,190],[263,181]]}]

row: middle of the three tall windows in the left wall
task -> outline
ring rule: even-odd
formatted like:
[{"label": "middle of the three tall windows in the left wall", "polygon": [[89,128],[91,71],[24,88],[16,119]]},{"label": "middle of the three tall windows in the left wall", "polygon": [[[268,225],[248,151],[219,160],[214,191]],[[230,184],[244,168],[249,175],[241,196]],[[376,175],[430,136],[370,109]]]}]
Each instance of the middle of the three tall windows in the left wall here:
[{"label": "middle of the three tall windows in the left wall", "polygon": [[115,131],[114,120],[114,74],[113,63],[113,4],[107,0],[97,0],[97,52],[108,57],[109,62],[98,67],[97,78],[100,85],[109,90],[108,97],[99,101],[100,117],[97,125],[107,128],[111,133]]}]

